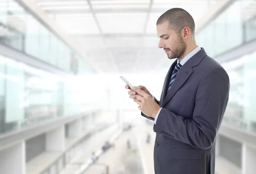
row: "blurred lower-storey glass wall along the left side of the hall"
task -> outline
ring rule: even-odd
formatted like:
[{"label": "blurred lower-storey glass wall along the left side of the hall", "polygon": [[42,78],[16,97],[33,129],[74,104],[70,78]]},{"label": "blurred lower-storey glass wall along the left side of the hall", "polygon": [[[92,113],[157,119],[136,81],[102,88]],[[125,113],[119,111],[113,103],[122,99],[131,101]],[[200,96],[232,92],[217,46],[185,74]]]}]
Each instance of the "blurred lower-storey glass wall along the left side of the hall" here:
[{"label": "blurred lower-storey glass wall along the left side of the hall", "polygon": [[[0,134],[99,106],[91,77],[63,77],[0,55]],[[88,85],[87,81],[90,81]]]}]

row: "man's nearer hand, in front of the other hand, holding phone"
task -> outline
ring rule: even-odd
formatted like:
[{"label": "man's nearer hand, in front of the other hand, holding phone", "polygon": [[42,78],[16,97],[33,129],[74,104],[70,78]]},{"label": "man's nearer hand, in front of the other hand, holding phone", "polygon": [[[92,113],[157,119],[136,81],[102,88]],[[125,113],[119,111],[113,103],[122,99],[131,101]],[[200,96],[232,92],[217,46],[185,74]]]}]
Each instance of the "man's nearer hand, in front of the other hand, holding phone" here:
[{"label": "man's nearer hand, in front of the other hand, holding phone", "polygon": [[155,118],[161,107],[157,104],[157,102],[154,101],[151,95],[145,93],[145,91],[141,90],[138,87],[133,88],[138,94],[140,94],[140,96],[136,95],[137,104],[140,105],[138,107],[139,110],[143,112],[146,116]]}]

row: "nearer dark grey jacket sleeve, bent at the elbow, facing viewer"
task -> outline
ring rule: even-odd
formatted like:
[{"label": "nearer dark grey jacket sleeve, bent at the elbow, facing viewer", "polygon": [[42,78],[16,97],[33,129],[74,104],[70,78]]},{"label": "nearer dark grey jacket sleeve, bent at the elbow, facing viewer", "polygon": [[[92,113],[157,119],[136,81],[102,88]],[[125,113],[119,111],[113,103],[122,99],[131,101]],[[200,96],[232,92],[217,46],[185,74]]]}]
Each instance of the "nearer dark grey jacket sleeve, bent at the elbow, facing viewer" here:
[{"label": "nearer dark grey jacket sleeve, bent at the elbow, facing viewer", "polygon": [[230,81],[226,71],[222,67],[210,69],[199,83],[192,119],[184,119],[162,108],[154,132],[166,132],[169,137],[171,135],[195,148],[211,147],[227,107],[229,89]]}]

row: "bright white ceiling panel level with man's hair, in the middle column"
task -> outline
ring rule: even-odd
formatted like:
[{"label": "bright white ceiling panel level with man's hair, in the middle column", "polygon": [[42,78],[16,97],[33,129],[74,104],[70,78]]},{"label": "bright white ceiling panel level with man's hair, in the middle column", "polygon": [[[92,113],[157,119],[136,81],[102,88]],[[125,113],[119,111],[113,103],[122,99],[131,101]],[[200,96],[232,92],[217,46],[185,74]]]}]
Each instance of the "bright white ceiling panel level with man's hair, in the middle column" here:
[{"label": "bright white ceiling panel level with man's hair, in the middle column", "polygon": [[97,13],[103,33],[143,33],[147,13]]}]

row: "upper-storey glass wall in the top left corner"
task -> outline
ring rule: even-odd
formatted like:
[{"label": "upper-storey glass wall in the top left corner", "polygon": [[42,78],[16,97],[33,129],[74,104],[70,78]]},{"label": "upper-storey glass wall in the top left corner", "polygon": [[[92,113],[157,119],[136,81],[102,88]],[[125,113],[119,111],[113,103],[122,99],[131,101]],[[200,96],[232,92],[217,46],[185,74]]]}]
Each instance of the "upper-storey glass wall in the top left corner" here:
[{"label": "upper-storey glass wall in the top left corner", "polygon": [[[66,72],[77,73],[78,64],[73,64],[72,61],[74,58],[82,60],[55,33],[15,0],[0,0],[0,44],[10,46]],[[86,61],[84,63],[87,64]],[[91,70],[92,68],[90,73],[95,72]]]}]

